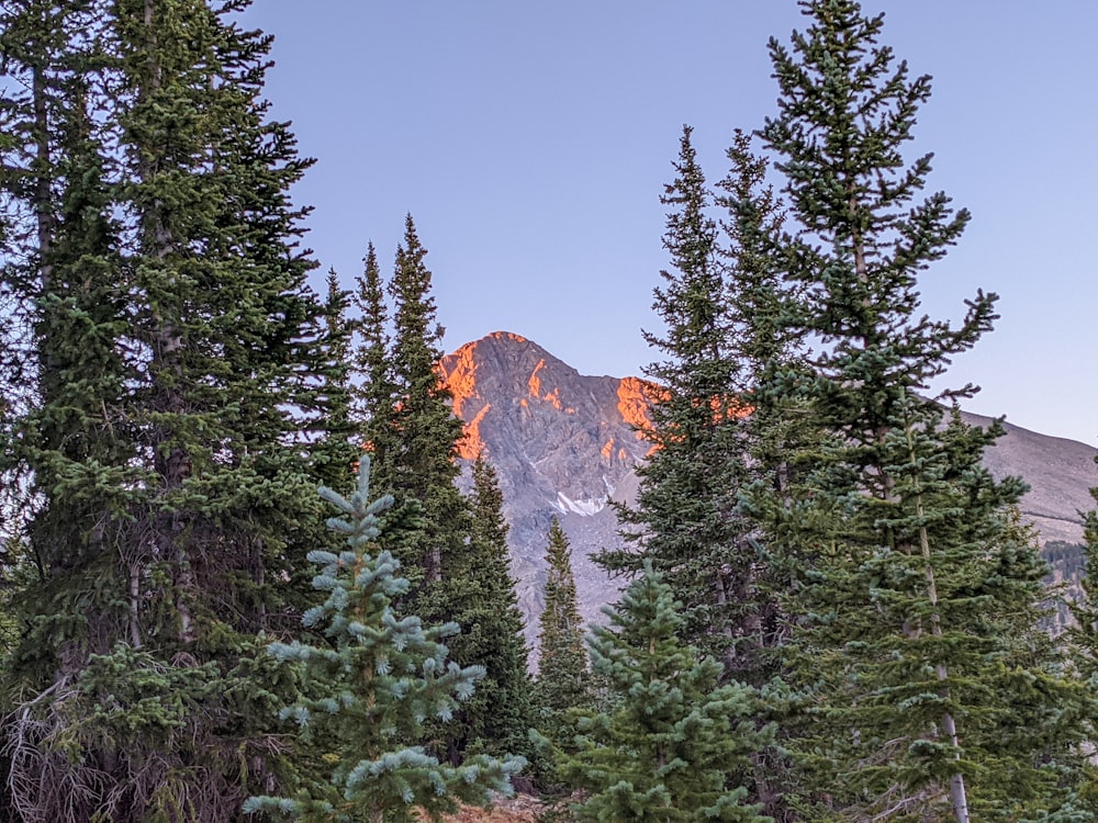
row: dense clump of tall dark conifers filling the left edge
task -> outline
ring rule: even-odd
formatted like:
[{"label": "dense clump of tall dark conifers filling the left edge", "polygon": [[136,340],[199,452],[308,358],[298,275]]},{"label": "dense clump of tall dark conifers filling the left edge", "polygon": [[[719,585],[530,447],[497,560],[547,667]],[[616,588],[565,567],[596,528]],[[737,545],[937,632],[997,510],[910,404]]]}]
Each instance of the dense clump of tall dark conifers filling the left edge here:
[{"label": "dense clump of tall dark conifers filling the left edge", "polygon": [[323,405],[287,194],[307,162],[266,120],[270,38],[227,19],[245,3],[16,5],[69,14],[49,48],[85,61],[42,98],[57,127],[29,199],[40,405],[20,459],[42,579],[7,785],[35,819],[229,819],[291,777],[269,706],[292,683],[248,654],[318,510],[289,410]]}]

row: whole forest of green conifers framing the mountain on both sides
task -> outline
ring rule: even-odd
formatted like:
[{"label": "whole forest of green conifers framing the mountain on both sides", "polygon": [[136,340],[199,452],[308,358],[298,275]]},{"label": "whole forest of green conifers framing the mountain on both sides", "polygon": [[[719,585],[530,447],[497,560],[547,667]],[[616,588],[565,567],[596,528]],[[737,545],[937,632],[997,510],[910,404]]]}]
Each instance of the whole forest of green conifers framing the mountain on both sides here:
[{"label": "whole forest of green conifers framing the mountain on both sides", "polygon": [[248,4],[0,4],[0,819],[1095,820],[1096,591],[928,388],[996,295],[920,311],[968,214],[884,15],[802,2],[716,182],[683,128],[628,585],[589,631],[553,522],[530,659],[415,222],[311,285]]}]

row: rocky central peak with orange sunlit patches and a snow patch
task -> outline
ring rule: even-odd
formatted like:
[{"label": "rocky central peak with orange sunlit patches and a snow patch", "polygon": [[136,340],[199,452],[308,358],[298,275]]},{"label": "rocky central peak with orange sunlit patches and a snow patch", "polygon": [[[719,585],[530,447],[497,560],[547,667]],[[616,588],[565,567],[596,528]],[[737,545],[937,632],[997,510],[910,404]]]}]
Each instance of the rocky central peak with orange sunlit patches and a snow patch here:
[{"label": "rocky central peak with orange sunlit patches and a snow patch", "polygon": [[617,583],[589,555],[621,542],[609,503],[636,488],[634,467],[649,450],[636,427],[656,387],[637,377],[581,375],[507,331],[466,343],[439,371],[466,424],[461,456],[483,452],[500,474],[524,610],[540,610],[541,556],[557,516],[572,544],[581,611],[593,619]]}]

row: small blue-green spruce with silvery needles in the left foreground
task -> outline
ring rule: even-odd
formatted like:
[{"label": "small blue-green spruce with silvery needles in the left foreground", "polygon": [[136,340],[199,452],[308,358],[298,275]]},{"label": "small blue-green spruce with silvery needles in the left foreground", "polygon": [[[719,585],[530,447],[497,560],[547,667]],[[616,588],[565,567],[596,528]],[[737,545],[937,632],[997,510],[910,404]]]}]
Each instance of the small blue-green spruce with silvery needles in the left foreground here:
[{"label": "small blue-green spruce with silvery needles in the left foreground", "polygon": [[273,643],[270,653],[301,666],[305,695],[282,710],[322,748],[329,779],[305,785],[292,798],[254,797],[245,812],[268,810],[301,821],[404,821],[457,810],[457,801],[484,805],[490,792],[509,792],[516,759],[486,755],[461,766],[440,764],[416,745],[426,718],[448,721],[473,694],[484,669],[447,663],[442,642],[458,627],[424,628],[418,617],[399,616],[394,600],[408,590],[400,563],[378,551],[382,512],[392,497],[370,501],[370,459],[359,467],[350,499],[322,488],[344,514],[329,526],[347,539],[339,553],[312,552],[314,587],[326,593],[303,624],[323,631],[318,645]]}]

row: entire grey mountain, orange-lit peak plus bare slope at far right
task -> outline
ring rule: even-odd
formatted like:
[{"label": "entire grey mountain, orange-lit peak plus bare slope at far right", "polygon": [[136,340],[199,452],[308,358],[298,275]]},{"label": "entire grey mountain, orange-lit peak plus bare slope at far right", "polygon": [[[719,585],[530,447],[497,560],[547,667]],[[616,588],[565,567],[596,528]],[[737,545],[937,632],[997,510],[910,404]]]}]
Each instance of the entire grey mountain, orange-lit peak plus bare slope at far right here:
[{"label": "entire grey mountain, orange-lit peak plus bare slope at far right", "polygon": [[[645,421],[659,388],[638,377],[581,375],[536,342],[506,331],[466,343],[439,369],[453,393],[453,412],[466,424],[461,456],[471,460],[483,450],[500,474],[528,640],[537,634],[542,555],[553,516],[572,545],[580,611],[596,619],[620,582],[607,579],[590,556],[623,543],[612,503],[635,498],[634,469],[650,448],[635,426]],[[986,465],[996,476],[1021,475],[1030,483],[1022,514],[1042,540],[1077,543],[1078,512],[1093,507],[1088,488],[1098,485],[1096,450],[1010,424],[1006,430],[988,450]]]}]

